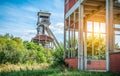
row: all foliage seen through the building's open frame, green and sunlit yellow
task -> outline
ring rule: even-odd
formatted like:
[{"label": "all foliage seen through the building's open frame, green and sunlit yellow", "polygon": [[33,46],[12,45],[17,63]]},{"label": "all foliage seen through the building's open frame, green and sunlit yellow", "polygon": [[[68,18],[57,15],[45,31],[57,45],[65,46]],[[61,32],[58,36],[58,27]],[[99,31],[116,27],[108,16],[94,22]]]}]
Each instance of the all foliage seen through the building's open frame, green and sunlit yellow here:
[{"label": "all foliage seen through the building's open frame, green and sunlit yellow", "polygon": [[[87,55],[88,57],[91,57],[92,56],[92,36],[89,36],[87,37]],[[74,38],[70,38],[70,40],[67,41],[67,53],[68,51],[72,51],[74,52],[75,56],[74,57],[77,57],[78,55],[78,41],[77,39],[74,39]],[[101,55],[101,58],[100,59],[105,59],[105,39],[103,37],[99,38],[99,37],[94,37],[94,41],[93,41],[93,44],[94,44],[94,55],[95,55],[95,58],[98,59],[98,55],[100,53]],[[117,45],[116,45],[117,46]],[[70,47],[70,49],[68,49],[68,47]],[[75,49],[75,50],[74,50]]]}]

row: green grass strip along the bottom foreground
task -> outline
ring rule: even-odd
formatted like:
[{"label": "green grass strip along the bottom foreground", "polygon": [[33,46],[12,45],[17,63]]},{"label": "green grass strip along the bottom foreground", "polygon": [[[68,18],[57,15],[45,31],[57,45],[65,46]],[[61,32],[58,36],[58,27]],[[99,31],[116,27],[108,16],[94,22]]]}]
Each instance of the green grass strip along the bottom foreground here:
[{"label": "green grass strip along the bottom foreground", "polygon": [[56,68],[46,67],[39,69],[38,68],[37,69],[26,68],[20,70],[11,69],[8,71],[1,71],[0,76],[120,76],[120,73],[79,71],[64,67],[56,67]]}]

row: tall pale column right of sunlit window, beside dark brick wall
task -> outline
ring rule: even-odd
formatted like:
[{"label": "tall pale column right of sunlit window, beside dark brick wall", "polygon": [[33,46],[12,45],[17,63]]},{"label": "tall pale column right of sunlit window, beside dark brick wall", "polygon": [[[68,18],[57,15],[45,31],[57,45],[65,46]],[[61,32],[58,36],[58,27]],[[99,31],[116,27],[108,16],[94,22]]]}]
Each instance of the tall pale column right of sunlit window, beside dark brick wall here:
[{"label": "tall pale column right of sunlit window, beside dark brick wall", "polygon": [[106,71],[110,70],[109,52],[113,51],[113,0],[106,0]]}]

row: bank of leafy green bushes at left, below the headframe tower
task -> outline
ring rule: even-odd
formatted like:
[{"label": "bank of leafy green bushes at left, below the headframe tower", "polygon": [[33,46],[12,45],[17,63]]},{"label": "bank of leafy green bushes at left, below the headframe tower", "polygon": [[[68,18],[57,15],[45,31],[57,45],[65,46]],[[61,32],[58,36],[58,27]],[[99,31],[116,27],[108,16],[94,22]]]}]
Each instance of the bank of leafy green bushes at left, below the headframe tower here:
[{"label": "bank of leafy green bushes at left, below the headframe tower", "polygon": [[0,36],[0,64],[51,63],[52,50],[45,49],[33,42],[22,41],[19,37],[6,34]]}]

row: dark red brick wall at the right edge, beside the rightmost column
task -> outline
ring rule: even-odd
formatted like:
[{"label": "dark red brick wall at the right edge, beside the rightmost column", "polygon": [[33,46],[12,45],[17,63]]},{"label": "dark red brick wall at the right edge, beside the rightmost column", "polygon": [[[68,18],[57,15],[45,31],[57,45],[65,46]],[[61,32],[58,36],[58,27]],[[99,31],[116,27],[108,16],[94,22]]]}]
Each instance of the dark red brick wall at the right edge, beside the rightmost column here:
[{"label": "dark red brick wall at the right edge, beside the rightmost column", "polygon": [[120,72],[120,53],[110,54],[110,71]]}]

